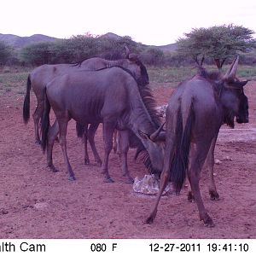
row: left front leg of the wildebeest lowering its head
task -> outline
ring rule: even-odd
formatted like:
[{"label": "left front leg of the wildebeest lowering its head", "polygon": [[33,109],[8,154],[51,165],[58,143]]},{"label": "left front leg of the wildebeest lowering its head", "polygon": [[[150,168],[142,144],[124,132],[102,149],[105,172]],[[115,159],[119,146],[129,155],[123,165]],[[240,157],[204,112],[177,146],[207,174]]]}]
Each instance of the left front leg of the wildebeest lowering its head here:
[{"label": "left front leg of the wildebeest lowering its head", "polygon": [[108,173],[108,157],[113,147],[113,131],[115,128],[115,123],[113,122],[104,122],[103,125],[103,137],[104,137],[104,160],[102,163],[102,173],[105,175],[104,182],[113,183],[113,179],[109,176]]}]

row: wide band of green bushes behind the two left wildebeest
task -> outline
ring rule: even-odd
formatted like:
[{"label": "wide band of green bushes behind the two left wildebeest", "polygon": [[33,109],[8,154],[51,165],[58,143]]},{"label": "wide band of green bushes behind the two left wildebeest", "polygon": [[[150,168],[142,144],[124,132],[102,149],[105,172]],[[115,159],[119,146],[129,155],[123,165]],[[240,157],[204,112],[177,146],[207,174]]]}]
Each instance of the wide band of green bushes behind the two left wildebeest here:
[{"label": "wide band of green bushes behind the two left wildebeest", "polygon": [[125,57],[125,45],[131,52],[139,52],[141,44],[129,37],[123,38],[94,38],[91,36],[75,36],[56,42],[30,44],[21,49],[20,61],[26,65],[38,66],[43,64],[74,63],[100,56],[108,60]]}]

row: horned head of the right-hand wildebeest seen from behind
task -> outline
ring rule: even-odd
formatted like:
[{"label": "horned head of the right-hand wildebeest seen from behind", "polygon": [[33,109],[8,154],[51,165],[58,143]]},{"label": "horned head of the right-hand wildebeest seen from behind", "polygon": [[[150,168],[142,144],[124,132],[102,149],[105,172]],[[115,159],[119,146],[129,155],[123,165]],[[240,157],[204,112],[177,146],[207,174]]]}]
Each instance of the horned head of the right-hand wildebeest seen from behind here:
[{"label": "horned head of the right-hand wildebeest seen from behind", "polygon": [[224,87],[221,99],[226,113],[224,122],[231,127],[234,127],[235,117],[239,124],[248,122],[248,100],[243,90],[243,86],[248,81],[240,81],[236,78],[238,59],[236,57],[222,79]]}]

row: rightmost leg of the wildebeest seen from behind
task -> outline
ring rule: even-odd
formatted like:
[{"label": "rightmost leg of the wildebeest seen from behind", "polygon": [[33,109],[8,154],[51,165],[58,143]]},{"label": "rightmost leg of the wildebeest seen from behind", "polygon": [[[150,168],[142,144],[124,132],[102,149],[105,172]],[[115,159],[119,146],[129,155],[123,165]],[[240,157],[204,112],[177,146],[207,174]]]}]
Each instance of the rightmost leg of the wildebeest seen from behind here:
[{"label": "rightmost leg of the wildebeest seen from behind", "polygon": [[217,137],[214,137],[212,139],[211,147],[209,149],[209,152],[207,154],[207,160],[205,163],[206,169],[210,174],[210,183],[209,183],[209,194],[211,197],[211,200],[219,200],[219,195],[216,189],[216,185],[214,183],[214,177],[213,177],[213,166],[214,166],[214,148],[217,141]]}]

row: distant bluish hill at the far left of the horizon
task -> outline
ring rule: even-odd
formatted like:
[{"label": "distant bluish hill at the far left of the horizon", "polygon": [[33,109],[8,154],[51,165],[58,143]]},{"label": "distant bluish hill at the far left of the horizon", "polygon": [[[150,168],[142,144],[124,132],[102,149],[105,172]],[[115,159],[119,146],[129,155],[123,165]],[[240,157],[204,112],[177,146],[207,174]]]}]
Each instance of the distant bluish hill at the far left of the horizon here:
[{"label": "distant bluish hill at the far left of the horizon", "polygon": [[47,41],[49,42],[49,41],[55,41],[57,39],[58,38],[51,38],[51,37],[40,35],[40,34],[35,34],[35,35],[32,35],[31,37],[19,37],[11,34],[0,33],[1,41],[5,41],[6,43],[18,49],[26,46],[27,44],[47,42]]}]

